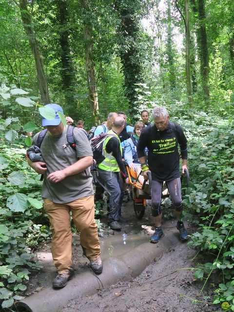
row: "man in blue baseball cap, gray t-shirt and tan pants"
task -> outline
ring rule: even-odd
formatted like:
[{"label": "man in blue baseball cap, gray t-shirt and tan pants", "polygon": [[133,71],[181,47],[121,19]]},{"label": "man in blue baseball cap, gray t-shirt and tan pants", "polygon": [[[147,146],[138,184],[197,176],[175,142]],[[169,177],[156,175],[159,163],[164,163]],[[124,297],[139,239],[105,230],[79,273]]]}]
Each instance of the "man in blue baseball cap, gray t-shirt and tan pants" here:
[{"label": "man in blue baseball cap, gray t-shirt and tan pants", "polygon": [[[94,219],[94,192],[89,167],[93,164],[93,152],[87,136],[80,129],[73,129],[74,147],[67,142],[68,125],[59,117],[63,110],[58,104],[47,104],[55,111],[54,119],[42,117],[42,126],[47,132],[40,141],[44,162],[29,165],[43,175],[42,198],[49,216],[52,244],[51,251],[58,275],[53,280],[54,288],[61,288],[74,275],[72,262],[72,233],[70,212],[80,232],[80,244],[94,273],[102,272],[98,228]],[[71,127],[71,126],[69,126]],[[33,138],[39,142],[40,133]]]}]

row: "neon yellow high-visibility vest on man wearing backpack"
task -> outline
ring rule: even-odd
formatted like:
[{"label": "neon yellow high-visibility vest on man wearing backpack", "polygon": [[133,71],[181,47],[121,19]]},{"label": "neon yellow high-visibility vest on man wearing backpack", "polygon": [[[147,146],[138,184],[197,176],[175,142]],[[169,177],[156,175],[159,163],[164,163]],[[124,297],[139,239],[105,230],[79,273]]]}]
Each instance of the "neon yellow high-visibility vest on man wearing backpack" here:
[{"label": "neon yellow high-visibility vest on man wearing backpack", "polygon": [[[110,130],[107,133],[110,133],[110,134],[114,135],[115,137],[117,137],[117,139],[119,140],[119,144],[120,144],[120,139],[114,131]],[[106,152],[106,144],[109,142],[110,138],[111,137],[105,138],[105,141],[103,144],[103,150],[102,150],[102,154],[103,154],[103,156],[105,156],[105,159],[98,165],[98,168],[105,170],[105,171],[119,172],[120,170],[119,170],[116,158],[112,155],[112,153]],[[121,146],[120,146],[120,152],[122,155]]]}]

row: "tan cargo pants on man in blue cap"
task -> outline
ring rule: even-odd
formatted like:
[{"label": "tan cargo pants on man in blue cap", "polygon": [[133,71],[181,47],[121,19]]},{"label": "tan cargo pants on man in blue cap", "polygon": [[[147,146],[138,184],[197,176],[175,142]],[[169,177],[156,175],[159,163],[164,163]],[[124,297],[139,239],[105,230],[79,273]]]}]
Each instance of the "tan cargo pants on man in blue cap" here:
[{"label": "tan cargo pants on man in blue cap", "polygon": [[59,274],[72,270],[71,217],[80,232],[80,245],[89,260],[100,255],[98,227],[94,218],[94,196],[76,199],[67,204],[56,204],[44,198],[45,212],[49,216],[52,243],[51,252]]}]

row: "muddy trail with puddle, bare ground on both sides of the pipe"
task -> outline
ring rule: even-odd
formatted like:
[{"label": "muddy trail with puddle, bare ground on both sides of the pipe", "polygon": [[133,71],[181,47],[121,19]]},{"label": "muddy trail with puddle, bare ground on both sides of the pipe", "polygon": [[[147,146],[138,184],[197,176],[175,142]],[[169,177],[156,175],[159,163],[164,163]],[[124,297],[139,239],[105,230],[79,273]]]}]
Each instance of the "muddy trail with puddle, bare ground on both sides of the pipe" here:
[{"label": "muddy trail with puddle, bare ground on both sides of the pipe", "polygon": [[[122,224],[119,232],[105,228],[101,233],[100,245],[102,248],[102,258],[117,256],[130,248],[135,248],[141,243],[149,241],[149,237],[154,233],[154,227],[150,202],[145,215],[138,220],[133,210],[133,201],[125,203],[122,208],[122,215],[129,220]],[[102,216],[100,222],[106,224],[106,216]],[[188,232],[193,233],[195,229],[185,223]],[[176,220],[163,221],[165,236],[176,227]],[[159,258],[152,258],[152,263],[136,278],[131,281],[121,280],[116,285],[102,288],[97,277],[97,289],[94,295],[86,295],[72,300],[64,306],[62,312],[211,312],[219,311],[215,306],[205,302],[212,301],[211,298],[204,299],[204,296],[212,294],[210,285],[208,291],[200,294],[202,284],[195,281],[193,273],[189,268],[196,266],[197,258],[195,251],[181,243],[175,233],[176,243],[166,253]],[[82,256],[79,246],[79,235],[74,235],[76,244],[73,247],[76,274],[82,273],[88,268],[88,260]],[[158,244],[162,244],[159,241]],[[158,244],[149,244],[149,248],[157,248]],[[39,260],[43,269],[31,279],[32,294],[51,286],[52,279],[56,276],[53,261],[50,254],[50,246],[44,246],[39,252]],[[69,283],[66,288],[69,287]],[[30,293],[31,292],[31,293]],[[197,300],[192,304],[192,300]],[[203,302],[199,302],[203,301]]]}]

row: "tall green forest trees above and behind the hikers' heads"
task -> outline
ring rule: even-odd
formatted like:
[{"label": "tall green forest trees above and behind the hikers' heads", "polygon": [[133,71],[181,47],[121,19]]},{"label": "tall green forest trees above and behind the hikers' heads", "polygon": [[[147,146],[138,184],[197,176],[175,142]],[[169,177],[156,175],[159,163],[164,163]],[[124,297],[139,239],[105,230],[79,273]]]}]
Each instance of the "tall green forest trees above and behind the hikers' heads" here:
[{"label": "tall green forest trees above and behind the hikers' heads", "polygon": [[[87,126],[110,111],[135,119],[142,108],[172,102],[226,114],[233,6],[231,0],[3,0],[0,81],[35,102],[59,103]],[[5,116],[14,111],[7,96],[1,106]]]}]

